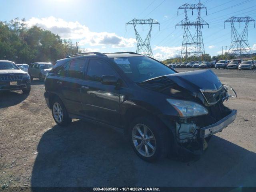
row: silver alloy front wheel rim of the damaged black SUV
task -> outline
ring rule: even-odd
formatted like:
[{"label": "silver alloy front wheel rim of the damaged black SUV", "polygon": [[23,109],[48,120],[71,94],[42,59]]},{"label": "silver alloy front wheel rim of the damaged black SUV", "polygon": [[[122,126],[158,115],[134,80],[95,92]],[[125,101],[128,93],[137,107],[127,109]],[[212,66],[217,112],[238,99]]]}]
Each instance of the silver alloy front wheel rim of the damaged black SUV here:
[{"label": "silver alloy front wheel rim of the damaged black SUV", "polygon": [[132,142],[136,150],[144,157],[151,157],[156,152],[156,138],[144,124],[136,124],[132,129]]}]

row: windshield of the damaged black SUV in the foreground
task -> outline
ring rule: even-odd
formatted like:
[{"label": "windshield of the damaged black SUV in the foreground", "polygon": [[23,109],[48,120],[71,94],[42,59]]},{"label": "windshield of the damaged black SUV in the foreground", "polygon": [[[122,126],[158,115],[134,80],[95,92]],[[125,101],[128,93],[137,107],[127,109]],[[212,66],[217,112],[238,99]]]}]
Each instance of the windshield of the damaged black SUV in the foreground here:
[{"label": "windshield of the damaged black SUV in the foreground", "polygon": [[113,61],[136,83],[175,73],[164,64],[149,57],[122,57],[114,58]]}]

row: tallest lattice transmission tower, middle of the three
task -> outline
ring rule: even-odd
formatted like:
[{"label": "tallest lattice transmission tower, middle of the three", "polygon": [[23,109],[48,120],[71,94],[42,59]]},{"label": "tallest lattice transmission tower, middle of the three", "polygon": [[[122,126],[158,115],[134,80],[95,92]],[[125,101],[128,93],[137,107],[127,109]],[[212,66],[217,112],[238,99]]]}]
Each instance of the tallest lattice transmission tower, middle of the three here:
[{"label": "tallest lattice transmission tower, middle of the three", "polygon": [[[201,55],[204,54],[204,42],[203,42],[203,37],[202,37],[202,28],[204,25],[209,24],[204,21],[201,18],[201,9],[206,9],[206,14],[207,14],[207,8],[203,4],[201,4],[201,1],[199,1],[198,4],[183,4],[178,8],[178,14],[179,14],[179,9],[184,10],[184,15],[185,18],[176,24],[176,26],[181,26],[183,28],[184,26],[184,34],[183,34],[183,40],[182,40],[182,49],[181,49],[181,58],[186,58],[186,61],[188,57],[190,56],[197,56],[198,60],[201,60]],[[188,10],[192,9],[192,15],[193,11],[197,11],[197,18],[196,21],[190,21],[188,19]],[[175,28],[176,28],[175,26]],[[194,31],[194,34],[192,33],[192,30],[190,30],[190,26],[195,26],[196,31]]]}]

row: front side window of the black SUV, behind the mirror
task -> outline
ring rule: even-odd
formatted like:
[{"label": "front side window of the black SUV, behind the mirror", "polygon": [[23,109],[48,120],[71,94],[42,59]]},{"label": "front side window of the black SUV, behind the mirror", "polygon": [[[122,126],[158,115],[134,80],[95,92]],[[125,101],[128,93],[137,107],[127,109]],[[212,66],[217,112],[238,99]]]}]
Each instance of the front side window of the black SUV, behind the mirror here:
[{"label": "front side window of the black SUV, behind the mirror", "polygon": [[87,70],[87,79],[101,81],[103,75],[112,75],[118,78],[118,74],[107,62],[98,59],[90,59]]}]

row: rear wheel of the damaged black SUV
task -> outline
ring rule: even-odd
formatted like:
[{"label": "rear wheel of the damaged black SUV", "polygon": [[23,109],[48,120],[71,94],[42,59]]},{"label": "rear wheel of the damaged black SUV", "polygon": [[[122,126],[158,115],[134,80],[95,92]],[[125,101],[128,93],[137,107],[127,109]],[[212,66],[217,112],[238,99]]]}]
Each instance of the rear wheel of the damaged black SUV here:
[{"label": "rear wheel of the damaged black SUV", "polygon": [[66,126],[72,122],[72,118],[69,118],[68,112],[59,98],[56,98],[52,102],[52,117],[56,124],[60,126]]}]

